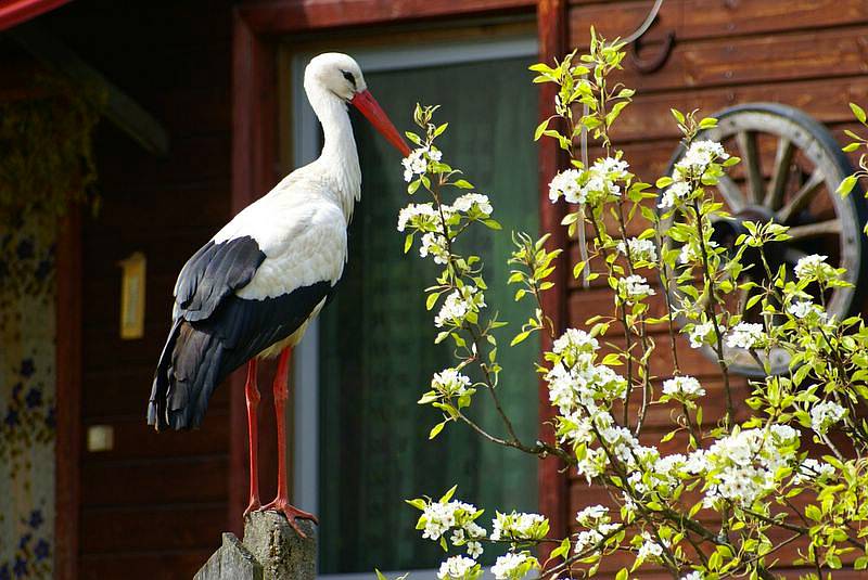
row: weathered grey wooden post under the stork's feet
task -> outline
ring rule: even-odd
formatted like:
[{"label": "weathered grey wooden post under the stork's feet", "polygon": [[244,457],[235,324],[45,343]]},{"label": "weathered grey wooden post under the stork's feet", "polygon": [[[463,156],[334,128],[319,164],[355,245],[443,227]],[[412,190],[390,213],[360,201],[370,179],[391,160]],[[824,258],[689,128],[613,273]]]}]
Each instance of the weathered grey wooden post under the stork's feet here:
[{"label": "weathered grey wooden post under the stork's feet", "polygon": [[252,513],[244,525],[244,540],[224,533],[224,544],[193,580],[315,580],[317,529],[311,521],[297,521],[306,538],[282,514]]}]

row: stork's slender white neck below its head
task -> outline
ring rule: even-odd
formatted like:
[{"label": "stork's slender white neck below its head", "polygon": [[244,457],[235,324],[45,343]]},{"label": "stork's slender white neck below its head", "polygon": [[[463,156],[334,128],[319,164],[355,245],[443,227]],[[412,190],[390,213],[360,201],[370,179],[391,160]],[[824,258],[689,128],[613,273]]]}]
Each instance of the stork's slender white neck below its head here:
[{"label": "stork's slender white neck below its head", "polygon": [[322,153],[317,164],[333,185],[335,202],[348,222],[353,216],[353,206],[361,195],[361,169],[346,103],[320,87],[306,87],[306,90],[314,113],[322,124],[324,136]]}]

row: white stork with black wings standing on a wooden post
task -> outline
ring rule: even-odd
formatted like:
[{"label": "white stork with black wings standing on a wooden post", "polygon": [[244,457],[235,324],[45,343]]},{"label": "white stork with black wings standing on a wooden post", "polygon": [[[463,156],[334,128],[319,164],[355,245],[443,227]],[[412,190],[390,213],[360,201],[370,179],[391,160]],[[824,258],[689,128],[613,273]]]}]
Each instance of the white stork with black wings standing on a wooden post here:
[{"label": "white stork with black wings standing on a wooden post", "polygon": [[[320,54],[305,68],[305,92],[324,133],[317,160],[296,169],[205,244],[175,284],[173,325],[157,363],[148,423],[157,430],[197,427],[214,388],[247,363],[254,510],[316,518],[289,503],[285,415],[289,357],[335,289],[347,259],[346,228],[361,194],[347,104],[358,108],[405,156],[409,147],[367,90],[356,61]],[[261,507],[257,477],[257,360],[280,356],[273,384],[278,494]],[[301,533],[301,530],[298,530]]]}]

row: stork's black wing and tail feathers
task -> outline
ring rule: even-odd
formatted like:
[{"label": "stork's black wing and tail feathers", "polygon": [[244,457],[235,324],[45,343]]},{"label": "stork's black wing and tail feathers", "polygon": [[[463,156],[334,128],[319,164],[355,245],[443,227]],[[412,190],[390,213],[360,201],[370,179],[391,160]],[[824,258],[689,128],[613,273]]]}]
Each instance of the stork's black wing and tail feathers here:
[{"label": "stork's black wing and tail feathers", "polygon": [[322,281],[261,300],[237,296],[264,259],[246,237],[208,243],[187,262],[176,286],[176,320],[154,376],[149,424],[197,427],[214,388],[292,335],[333,291]]}]

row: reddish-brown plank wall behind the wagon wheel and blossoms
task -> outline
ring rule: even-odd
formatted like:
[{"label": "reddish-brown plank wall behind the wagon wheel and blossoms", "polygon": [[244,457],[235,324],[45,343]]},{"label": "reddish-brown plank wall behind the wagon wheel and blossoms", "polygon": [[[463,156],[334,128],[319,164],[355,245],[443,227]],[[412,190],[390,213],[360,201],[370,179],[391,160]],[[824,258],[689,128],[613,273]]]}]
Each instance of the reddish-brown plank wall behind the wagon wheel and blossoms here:
[{"label": "reddish-brown plank wall behind the wagon wheel and blossoms", "polygon": [[[595,25],[604,36],[626,36],[642,21],[652,5],[650,0],[573,0],[570,9],[571,46],[585,46],[588,29]],[[839,142],[843,130],[853,129],[850,101],[868,103],[868,3],[864,0],[666,0],[659,20],[650,29],[641,55],[653,55],[661,49],[660,39],[675,33],[675,44],[665,65],[656,73],[643,75],[625,60],[625,72],[618,78],[637,89],[635,103],[618,120],[615,145],[624,150],[630,170],[653,183],[664,175],[677,145],[678,132],[669,107],[681,111],[700,108],[712,114],[724,107],[756,101],[789,104],[827,124]],[[773,152],[767,154],[771,155]],[[600,156],[591,150],[590,157]],[[635,225],[638,233],[639,225]],[[575,243],[570,248],[571,263],[578,260]],[[651,300],[652,310],[663,312],[661,296]],[[600,312],[612,310],[611,292],[600,284],[583,289],[576,281],[567,292],[569,320],[576,327]],[[664,378],[672,375],[671,339],[665,328],[653,334],[658,349],[652,370]],[[614,338],[612,343],[623,343]],[[703,378],[705,421],[722,416],[724,398],[716,364],[699,351],[688,348],[678,338],[678,357],[682,373]],[[736,400],[746,395],[745,382],[737,379]],[[739,408],[744,418],[745,405]],[[634,414],[635,416],[635,414]],[[672,425],[668,411],[652,409],[648,418],[649,442]],[[682,451],[673,442],[664,446],[669,452]],[[574,514],[586,505],[611,504],[607,492],[571,476],[570,519],[576,529]],[[714,519],[701,512],[700,517]],[[783,536],[780,538],[783,539]],[[793,543],[781,552],[793,559],[800,546]],[[601,571],[613,573],[629,564],[622,558],[604,563]],[[787,570],[797,577],[804,570]],[[642,578],[666,575],[649,569]],[[839,572],[835,572],[835,578]],[[841,577],[864,578],[863,572]]]}]

